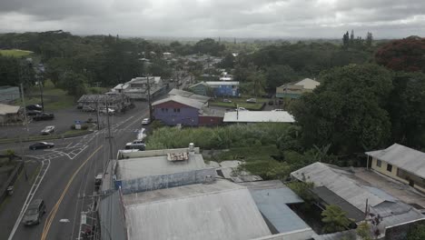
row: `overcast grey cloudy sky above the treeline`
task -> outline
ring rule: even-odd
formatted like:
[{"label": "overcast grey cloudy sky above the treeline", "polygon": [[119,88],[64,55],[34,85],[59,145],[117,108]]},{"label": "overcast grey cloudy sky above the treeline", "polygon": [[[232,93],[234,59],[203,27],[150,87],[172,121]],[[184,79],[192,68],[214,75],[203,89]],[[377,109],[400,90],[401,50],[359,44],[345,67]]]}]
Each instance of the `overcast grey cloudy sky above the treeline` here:
[{"label": "overcast grey cloudy sky above the treeline", "polygon": [[0,32],[363,38],[424,36],[425,0],[0,0]]}]

